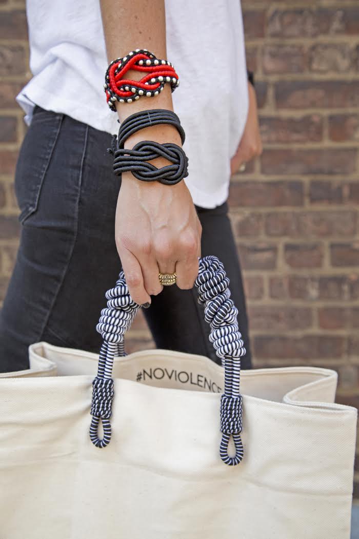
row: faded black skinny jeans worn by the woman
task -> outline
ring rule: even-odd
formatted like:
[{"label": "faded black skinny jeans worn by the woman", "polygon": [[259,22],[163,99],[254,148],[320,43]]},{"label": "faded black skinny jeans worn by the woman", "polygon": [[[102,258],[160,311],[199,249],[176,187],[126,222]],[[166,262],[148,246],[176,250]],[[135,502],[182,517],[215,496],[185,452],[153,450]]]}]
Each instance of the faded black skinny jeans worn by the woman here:
[{"label": "faded black skinny jeans worn by the woman", "polygon": [[[114,234],[121,181],[112,173],[106,151],[110,139],[64,114],[34,110],[16,169],[22,231],[0,314],[2,372],[27,368],[27,347],[33,342],[95,352],[100,348],[95,326],[105,306],[104,293],[121,269]],[[247,314],[227,203],[196,210],[203,227],[202,255],[219,257],[230,279],[247,349],[242,365],[249,368]],[[164,287],[143,310],[158,348],[218,362],[195,289]]]}]

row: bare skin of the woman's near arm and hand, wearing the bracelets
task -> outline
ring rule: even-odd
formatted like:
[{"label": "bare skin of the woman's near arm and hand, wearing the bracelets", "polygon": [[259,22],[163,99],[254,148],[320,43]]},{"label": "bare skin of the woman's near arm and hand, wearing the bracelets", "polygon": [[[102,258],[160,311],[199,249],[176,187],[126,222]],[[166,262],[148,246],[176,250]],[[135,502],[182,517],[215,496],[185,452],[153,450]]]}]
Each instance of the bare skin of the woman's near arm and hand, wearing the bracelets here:
[{"label": "bare skin of the woman's near arm and hand, wearing the bracelets", "polygon": [[[126,56],[135,49],[147,49],[167,59],[164,0],[101,0],[101,12],[108,60]],[[168,60],[171,61],[170,58]],[[143,73],[129,71],[139,80]],[[180,92],[181,89],[177,89]],[[120,121],[150,108],[173,110],[170,85],[156,98],[140,98],[116,104]],[[114,113],[111,113],[114,114]],[[141,140],[172,142],[181,146],[173,126],[151,126],[135,133],[125,143],[133,148]],[[151,161],[157,167],[170,164],[162,157]],[[201,254],[201,224],[184,181],[176,185],[138,181],[131,172],[122,174],[115,238],[129,292],[143,305],[163,286],[158,273],[177,273],[180,288],[192,288]]]}]

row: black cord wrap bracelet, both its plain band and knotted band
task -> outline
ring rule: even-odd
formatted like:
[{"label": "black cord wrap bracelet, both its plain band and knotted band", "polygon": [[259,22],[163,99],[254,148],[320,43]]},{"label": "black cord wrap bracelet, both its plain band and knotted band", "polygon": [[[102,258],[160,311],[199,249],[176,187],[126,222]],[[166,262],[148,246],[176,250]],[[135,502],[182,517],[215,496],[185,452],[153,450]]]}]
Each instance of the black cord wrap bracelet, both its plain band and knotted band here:
[{"label": "black cord wrap bracelet, both its plain band and knotted band", "polygon": [[[124,143],[130,135],[145,127],[167,123],[177,128],[182,144],[185,132],[180,120],[172,110],[150,109],[142,110],[128,116],[118,130],[118,137],[112,137],[111,148],[108,151],[114,155],[114,172],[116,176],[122,172],[132,172],[133,176],[144,182],[158,181],[165,185],[174,185],[188,176],[188,157],[184,150],[173,143],[159,144],[154,141],[140,141],[132,150],[124,149]],[[158,169],[152,163],[147,163],[156,157],[165,157],[172,161]]]}]

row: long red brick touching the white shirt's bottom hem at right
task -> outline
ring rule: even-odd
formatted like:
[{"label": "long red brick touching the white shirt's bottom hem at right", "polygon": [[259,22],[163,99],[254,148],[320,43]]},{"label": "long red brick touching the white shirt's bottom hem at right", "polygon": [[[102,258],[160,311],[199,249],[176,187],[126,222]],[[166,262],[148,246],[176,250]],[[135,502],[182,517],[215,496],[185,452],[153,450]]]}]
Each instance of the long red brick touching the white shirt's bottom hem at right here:
[{"label": "long red brick touching the white shirt's bottom hem at right", "polygon": [[301,206],[302,182],[233,182],[229,203],[232,206]]}]

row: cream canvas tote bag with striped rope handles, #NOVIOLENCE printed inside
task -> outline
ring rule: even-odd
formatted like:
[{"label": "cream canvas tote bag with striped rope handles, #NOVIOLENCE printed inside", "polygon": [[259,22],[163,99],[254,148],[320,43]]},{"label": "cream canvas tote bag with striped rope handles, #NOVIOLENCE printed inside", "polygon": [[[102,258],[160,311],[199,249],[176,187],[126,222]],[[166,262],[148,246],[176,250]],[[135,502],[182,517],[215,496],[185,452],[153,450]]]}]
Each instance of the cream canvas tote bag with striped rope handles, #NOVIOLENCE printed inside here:
[{"label": "cream canvas tote bag with striped rope handles, #NOVIOLENCE printed inside", "polygon": [[42,342],[29,370],[1,375],[1,539],[349,539],[356,409],[334,404],[336,372],[245,371],[241,398],[215,257],[196,285],[224,369],[168,350],[119,357],[137,309],[122,273],[100,361]]}]

